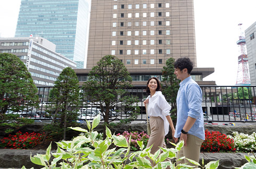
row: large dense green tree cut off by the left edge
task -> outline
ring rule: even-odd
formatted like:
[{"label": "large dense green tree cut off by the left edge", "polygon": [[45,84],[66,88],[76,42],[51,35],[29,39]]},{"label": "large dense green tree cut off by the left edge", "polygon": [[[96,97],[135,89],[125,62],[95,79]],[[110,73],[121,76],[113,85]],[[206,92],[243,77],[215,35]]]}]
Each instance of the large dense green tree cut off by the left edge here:
[{"label": "large dense green tree cut off by the left edge", "polygon": [[[39,104],[37,87],[25,64],[13,54],[0,54],[0,130],[11,132],[32,119],[19,118],[20,112]],[[8,113],[6,113],[8,111]],[[12,122],[12,123],[10,123]]]}]

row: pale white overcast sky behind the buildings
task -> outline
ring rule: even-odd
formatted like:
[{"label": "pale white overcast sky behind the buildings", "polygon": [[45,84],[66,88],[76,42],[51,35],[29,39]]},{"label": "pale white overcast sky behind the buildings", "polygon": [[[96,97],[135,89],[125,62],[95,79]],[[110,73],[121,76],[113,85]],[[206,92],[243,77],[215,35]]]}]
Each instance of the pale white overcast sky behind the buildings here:
[{"label": "pale white overcast sky behind the buildings", "polygon": [[[14,37],[21,0],[0,1],[0,37]],[[256,0],[194,0],[197,67],[213,67],[204,81],[236,84],[240,27],[256,21]]]}]

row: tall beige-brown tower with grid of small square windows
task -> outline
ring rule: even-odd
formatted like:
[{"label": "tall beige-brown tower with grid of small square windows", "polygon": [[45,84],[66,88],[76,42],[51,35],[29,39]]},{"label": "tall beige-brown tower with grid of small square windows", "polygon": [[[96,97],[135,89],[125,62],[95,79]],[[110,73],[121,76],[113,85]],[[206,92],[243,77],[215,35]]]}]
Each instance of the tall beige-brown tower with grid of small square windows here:
[{"label": "tall beige-brown tower with grid of small square windows", "polygon": [[110,54],[129,69],[184,56],[196,67],[193,0],[92,1],[87,68]]}]

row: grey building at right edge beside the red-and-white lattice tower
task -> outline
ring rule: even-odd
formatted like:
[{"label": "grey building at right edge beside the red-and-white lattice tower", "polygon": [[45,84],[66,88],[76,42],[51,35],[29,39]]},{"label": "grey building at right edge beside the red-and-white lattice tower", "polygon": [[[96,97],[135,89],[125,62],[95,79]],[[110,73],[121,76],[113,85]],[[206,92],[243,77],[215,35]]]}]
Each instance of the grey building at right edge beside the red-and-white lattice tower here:
[{"label": "grey building at right edge beside the red-and-white lattice tower", "polygon": [[245,31],[251,85],[256,86],[256,22]]}]

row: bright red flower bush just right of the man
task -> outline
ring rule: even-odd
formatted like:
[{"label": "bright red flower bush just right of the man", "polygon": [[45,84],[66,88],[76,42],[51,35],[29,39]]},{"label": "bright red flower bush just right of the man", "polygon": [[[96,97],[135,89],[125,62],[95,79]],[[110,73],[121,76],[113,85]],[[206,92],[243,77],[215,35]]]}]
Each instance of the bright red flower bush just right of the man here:
[{"label": "bright red flower bush just right of the man", "polygon": [[228,152],[235,151],[234,140],[218,131],[205,130],[205,140],[201,150],[207,152]]}]

